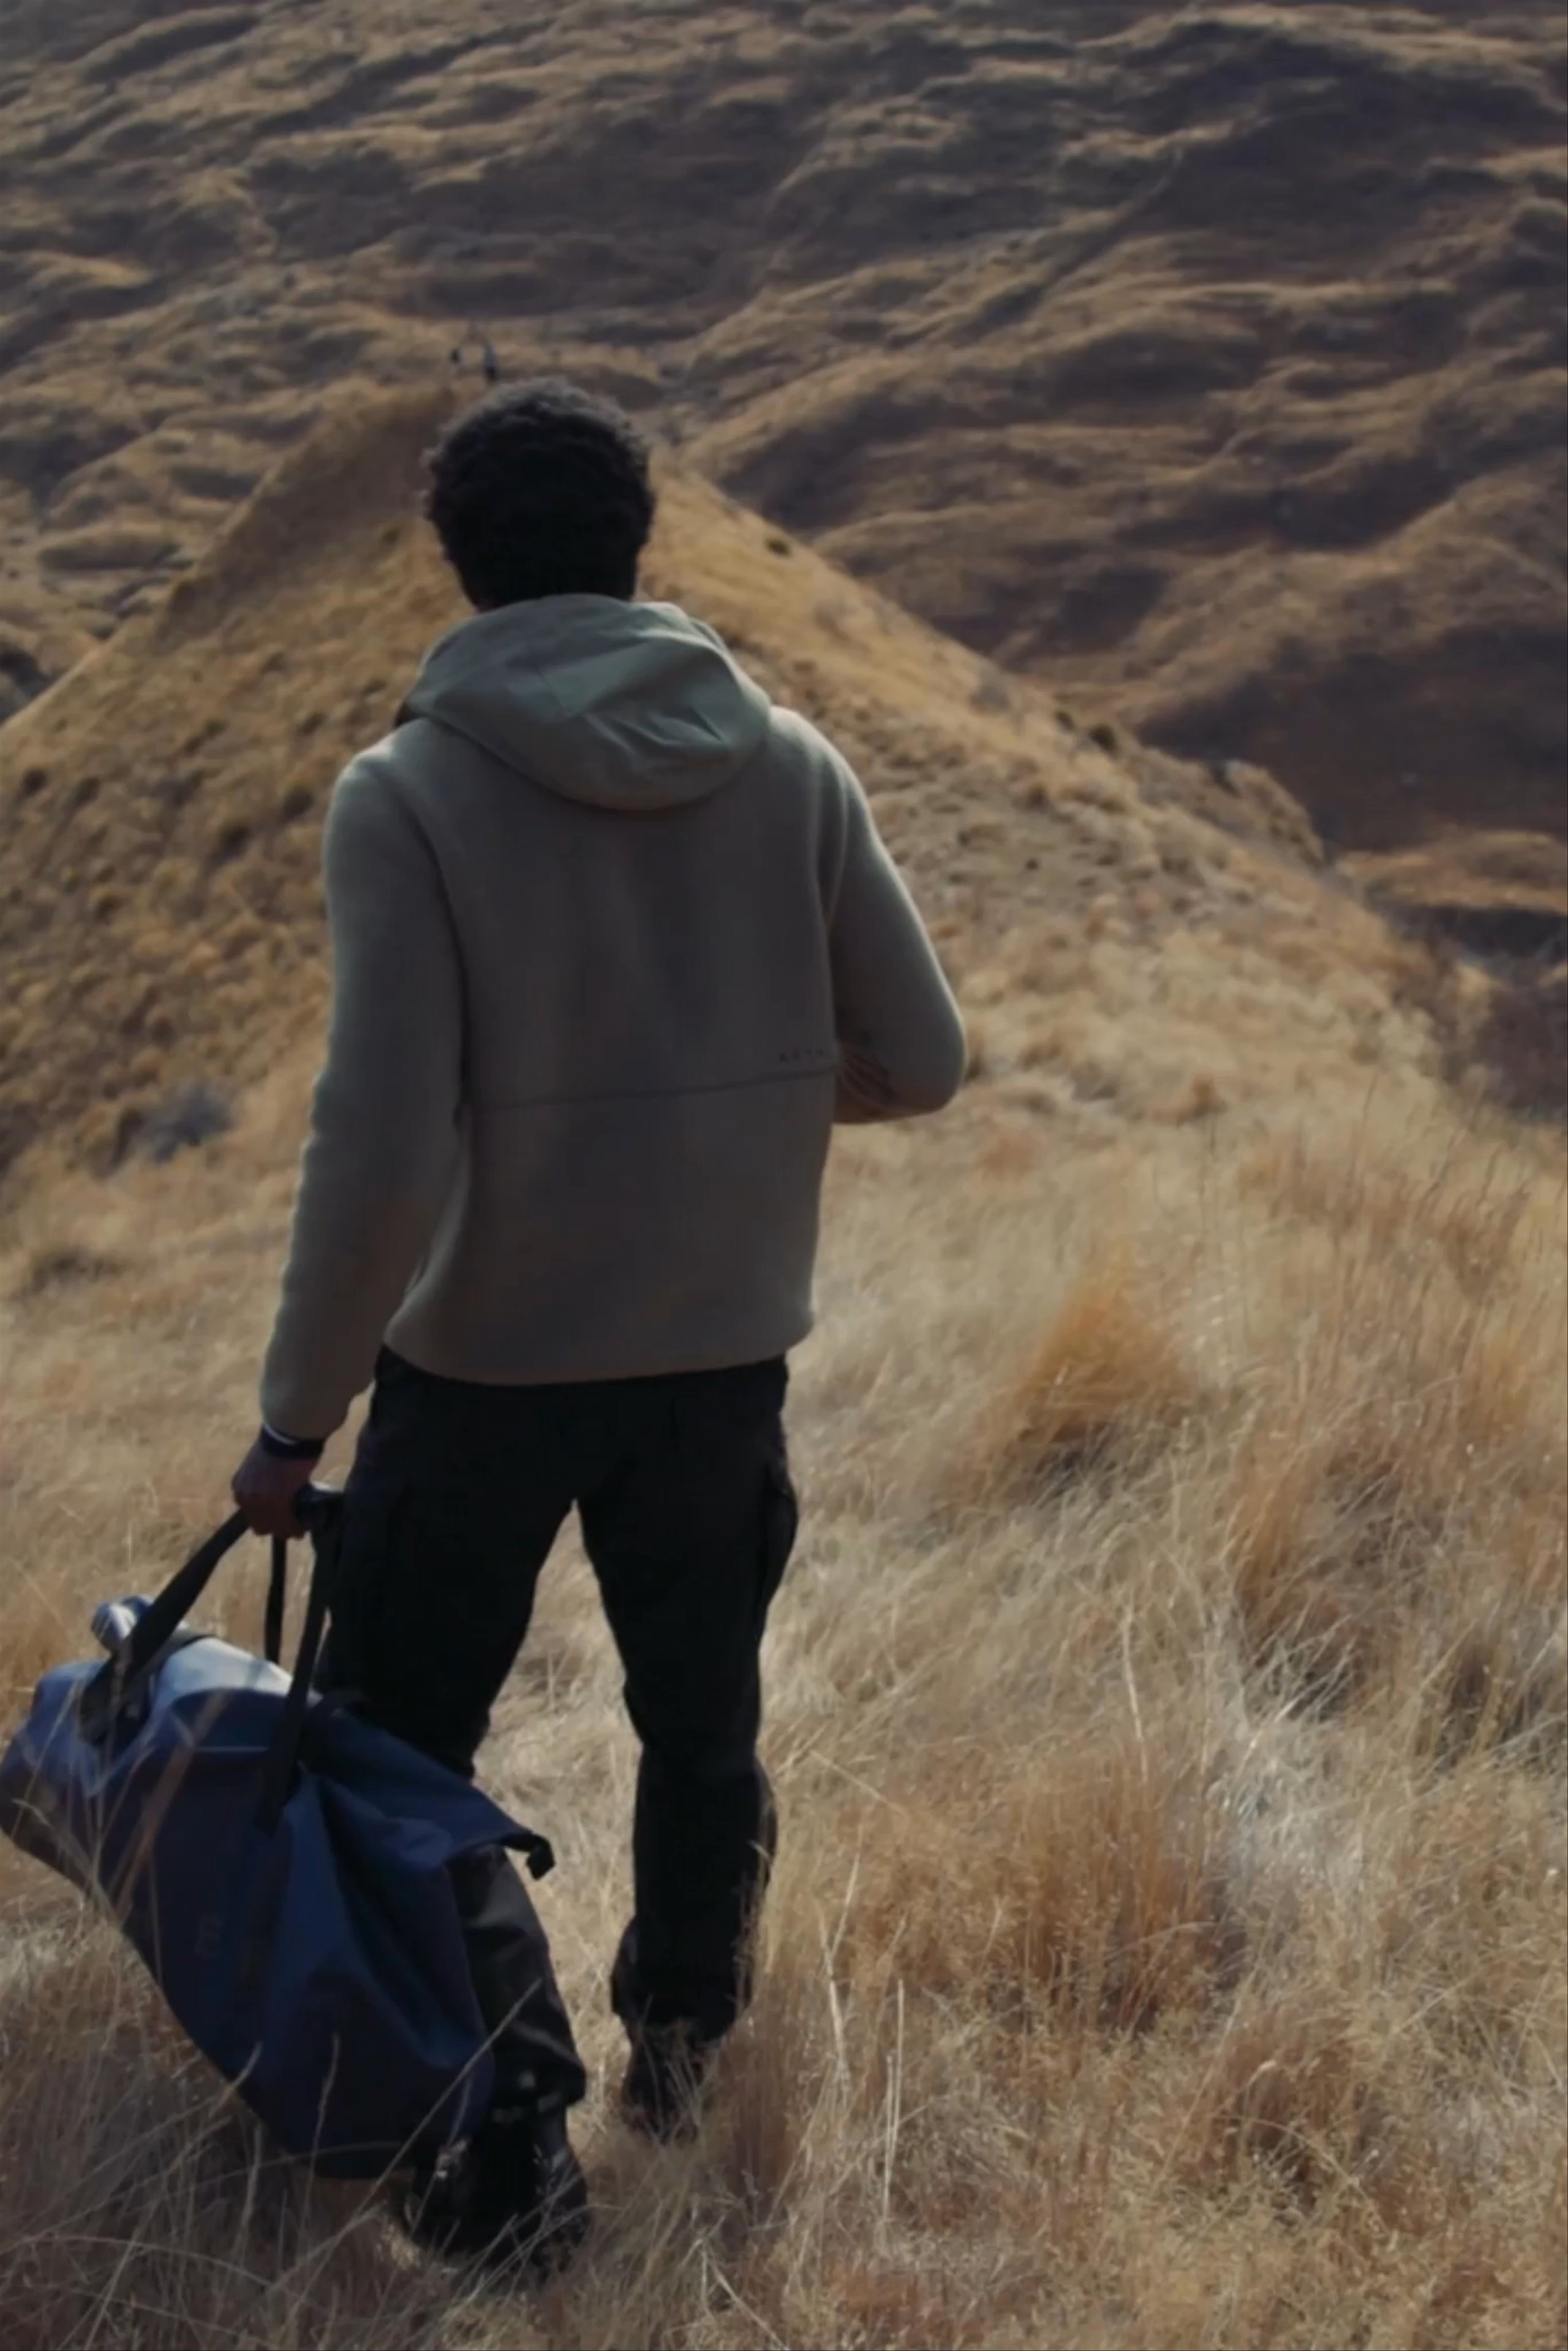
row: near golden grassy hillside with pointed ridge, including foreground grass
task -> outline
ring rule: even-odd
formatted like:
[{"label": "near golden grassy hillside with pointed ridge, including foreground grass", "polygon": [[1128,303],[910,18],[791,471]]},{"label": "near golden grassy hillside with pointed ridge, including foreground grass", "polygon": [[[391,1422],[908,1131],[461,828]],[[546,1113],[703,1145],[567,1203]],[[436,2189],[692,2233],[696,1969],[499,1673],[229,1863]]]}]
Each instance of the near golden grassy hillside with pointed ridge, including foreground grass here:
[{"label": "near golden grassy hillside with pointed ridge, including foreground grass", "polygon": [[[346,400],[0,738],[7,1714],[252,1429],[320,809],[451,614],[437,409]],[[520,2304],[277,2165],[0,1848],[7,2346],[1554,2351],[1563,1147],[1453,1079],[1483,983],[1260,773],[1095,741],[696,475],[649,585],[839,734],[976,1034],[945,1119],[835,1150],[755,2020],[693,2149],[625,2139],[635,1754],[567,1540],[482,1770],[562,1855],[581,2271]],[[160,1159],[193,1081],[235,1124]]]}]

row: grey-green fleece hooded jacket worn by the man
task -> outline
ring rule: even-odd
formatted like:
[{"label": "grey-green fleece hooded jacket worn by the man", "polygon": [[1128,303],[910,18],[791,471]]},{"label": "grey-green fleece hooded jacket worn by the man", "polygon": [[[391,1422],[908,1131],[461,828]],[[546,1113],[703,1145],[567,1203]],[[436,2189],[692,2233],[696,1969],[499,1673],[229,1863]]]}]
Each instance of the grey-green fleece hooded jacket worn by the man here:
[{"label": "grey-green fleece hooded jacket worn by the man", "polygon": [[839,1119],[947,1103],[964,1027],[865,795],[675,604],[548,597],[425,658],[324,839],[334,1002],[266,1420],[383,1338],[531,1385],[811,1328]]}]

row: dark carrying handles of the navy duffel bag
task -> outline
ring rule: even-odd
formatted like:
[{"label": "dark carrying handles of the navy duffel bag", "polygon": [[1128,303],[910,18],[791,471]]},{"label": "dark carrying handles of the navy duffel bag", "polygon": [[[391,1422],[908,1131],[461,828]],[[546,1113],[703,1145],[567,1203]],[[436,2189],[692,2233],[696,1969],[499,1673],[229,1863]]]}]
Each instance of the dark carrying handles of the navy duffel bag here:
[{"label": "dark carrying handles of the navy duffel bag", "polygon": [[[315,1674],[322,1632],[327,1629],[331,1570],[336,1566],[334,1538],[341,1505],[343,1498],[331,1486],[306,1486],[294,1498],[294,1516],[315,1540],[315,1566],[310,1570],[310,1596],[306,1601],[306,1622],[299,1634],[294,1676],[289,1681],[289,1695],[277,1721],[277,1733],[268,1751],[261,1784],[259,1820],[268,1834],[277,1827],[294,1787],[299,1742],[306,1726],[306,1709],[310,1704],[310,1676]],[[78,1719],[89,1740],[106,1735],[120,1707],[190,1615],[221,1561],[228,1559],[244,1531],[247,1519],[244,1512],[237,1509],[233,1519],[226,1519],[223,1526],[216,1528],[216,1533],[207,1535],[207,1542],[190,1554],[183,1568],[176,1568],[158,1599],[148,1606],[146,1615],[136,1620],[125,1648],[99,1667],[89,1683],[85,1683]],[[270,1662],[277,1662],[277,1650],[282,1646],[284,1561],[287,1545],[277,1540],[273,1542],[273,1573],[266,1601],[266,1653]]]}]

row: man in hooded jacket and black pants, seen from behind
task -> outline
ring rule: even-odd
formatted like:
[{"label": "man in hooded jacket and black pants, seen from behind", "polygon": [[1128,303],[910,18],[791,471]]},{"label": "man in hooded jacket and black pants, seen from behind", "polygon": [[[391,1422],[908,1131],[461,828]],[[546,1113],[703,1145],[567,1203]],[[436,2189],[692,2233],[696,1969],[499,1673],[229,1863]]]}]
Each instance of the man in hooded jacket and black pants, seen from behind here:
[{"label": "man in hooded jacket and black pants, seen from behind", "polygon": [[[292,1533],[374,1375],[324,1681],[461,1773],[578,1509],[642,1740],[621,2111],[677,2135],[773,1846],[757,1657],[830,1128],[940,1110],[964,1030],[844,759],[635,602],[654,491],[618,409],[487,400],[428,515],[475,618],[331,799],[331,1034],[235,1498]],[[583,2067],[510,1860],[458,1904],[496,2099],[421,2226],[555,2257]]]}]

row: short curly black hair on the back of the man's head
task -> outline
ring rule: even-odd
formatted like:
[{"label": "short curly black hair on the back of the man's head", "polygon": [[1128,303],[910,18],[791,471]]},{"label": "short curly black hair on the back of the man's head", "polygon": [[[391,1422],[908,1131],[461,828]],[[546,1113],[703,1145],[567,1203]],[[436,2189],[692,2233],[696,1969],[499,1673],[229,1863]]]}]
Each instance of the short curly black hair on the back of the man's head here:
[{"label": "short curly black hair on the back of the man's head", "polygon": [[637,592],[649,444],[614,400],[548,379],[491,393],[425,458],[425,515],[480,611]]}]

